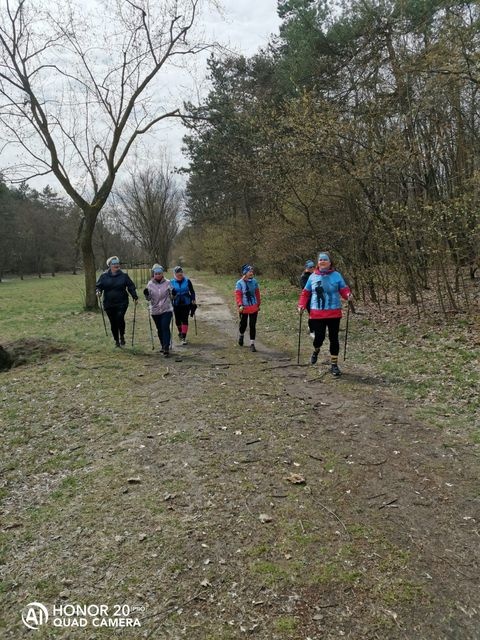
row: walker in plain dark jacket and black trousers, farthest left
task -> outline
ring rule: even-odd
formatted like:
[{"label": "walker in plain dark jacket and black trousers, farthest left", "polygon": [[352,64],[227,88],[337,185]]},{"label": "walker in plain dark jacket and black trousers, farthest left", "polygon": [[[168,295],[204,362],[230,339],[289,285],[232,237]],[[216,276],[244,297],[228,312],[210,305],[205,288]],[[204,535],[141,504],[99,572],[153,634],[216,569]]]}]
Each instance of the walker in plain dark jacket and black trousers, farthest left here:
[{"label": "walker in plain dark jacket and black trousers, farthest left", "polygon": [[116,347],[125,345],[125,314],[128,308],[128,294],[137,304],[138,295],[130,276],[120,269],[120,260],[112,256],[107,260],[107,271],[97,280],[96,293],[103,294],[103,308],[110,320],[112,336]]}]

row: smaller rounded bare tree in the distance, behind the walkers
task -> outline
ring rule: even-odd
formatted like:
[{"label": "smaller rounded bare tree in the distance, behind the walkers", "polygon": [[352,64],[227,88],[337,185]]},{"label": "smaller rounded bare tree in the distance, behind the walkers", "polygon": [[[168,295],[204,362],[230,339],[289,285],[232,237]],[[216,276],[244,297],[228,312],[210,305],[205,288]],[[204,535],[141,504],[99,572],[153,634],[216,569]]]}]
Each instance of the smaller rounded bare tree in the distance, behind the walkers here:
[{"label": "smaller rounded bare tree in the distance, behind the walkers", "polygon": [[183,205],[181,190],[168,165],[133,173],[115,196],[120,225],[152,262],[167,266]]}]

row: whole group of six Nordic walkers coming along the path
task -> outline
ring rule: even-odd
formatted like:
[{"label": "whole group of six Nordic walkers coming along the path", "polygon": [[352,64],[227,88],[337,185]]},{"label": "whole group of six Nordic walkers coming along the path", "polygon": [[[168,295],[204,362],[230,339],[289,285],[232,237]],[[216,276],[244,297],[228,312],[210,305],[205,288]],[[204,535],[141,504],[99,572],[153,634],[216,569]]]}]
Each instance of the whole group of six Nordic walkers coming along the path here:
[{"label": "whole group of six Nordic walkers coming along the path", "polygon": [[[116,347],[125,344],[125,313],[128,308],[128,294],[138,302],[135,284],[128,274],[120,269],[120,260],[112,256],[107,260],[107,271],[97,281],[97,295],[103,296],[103,308],[110,320],[110,327]],[[173,278],[165,277],[165,269],[154,264],[152,277],[143,290],[149,303],[149,313],[155,323],[161,351],[169,357],[171,348],[172,318],[178,330],[182,345],[187,344],[188,319],[193,317],[197,308],[195,290],[192,282],[183,273],[182,267],[173,269]],[[235,301],[239,313],[238,344],[243,347],[247,327],[250,338],[250,351],[255,352],[257,318],[260,311],[260,288],[254,277],[253,267],[244,264],[242,277],[235,284]],[[308,327],[313,338],[311,364],[318,360],[320,348],[328,330],[330,343],[330,371],[339,376],[338,354],[340,352],[339,331],[342,317],[342,299],[352,300],[352,292],[343,276],[335,269],[326,252],[318,255],[317,264],[307,260],[300,277],[302,292],[297,309],[300,314],[306,310],[309,314]]]}]

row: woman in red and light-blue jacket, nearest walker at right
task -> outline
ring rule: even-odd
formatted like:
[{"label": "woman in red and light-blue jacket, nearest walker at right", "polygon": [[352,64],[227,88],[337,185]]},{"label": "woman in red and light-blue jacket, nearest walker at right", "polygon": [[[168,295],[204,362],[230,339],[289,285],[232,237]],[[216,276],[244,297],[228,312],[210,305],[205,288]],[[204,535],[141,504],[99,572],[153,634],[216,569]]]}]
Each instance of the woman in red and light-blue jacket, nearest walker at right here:
[{"label": "woman in red and light-blue jacket, nearest walker at right", "polygon": [[343,276],[333,267],[328,253],[322,251],[318,255],[317,268],[309,277],[300,294],[298,310],[303,313],[310,302],[310,326],[315,333],[314,351],[310,358],[312,364],[317,362],[318,353],[328,329],[330,371],[334,376],[339,376],[342,373],[338,368],[338,354],[340,352],[338,334],[342,317],[342,298],[351,300],[352,292],[345,284]]}]

